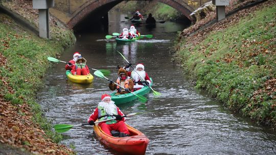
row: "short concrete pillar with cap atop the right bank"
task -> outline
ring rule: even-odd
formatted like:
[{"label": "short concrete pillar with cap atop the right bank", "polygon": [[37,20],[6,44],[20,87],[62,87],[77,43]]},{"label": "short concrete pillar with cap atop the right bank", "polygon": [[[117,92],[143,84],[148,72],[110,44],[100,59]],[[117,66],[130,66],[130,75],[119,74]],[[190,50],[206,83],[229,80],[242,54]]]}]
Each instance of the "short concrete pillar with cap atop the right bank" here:
[{"label": "short concrete pillar with cap atop the right bank", "polygon": [[212,0],[212,3],[216,5],[217,19],[218,21],[225,18],[225,6],[229,5],[229,0]]}]

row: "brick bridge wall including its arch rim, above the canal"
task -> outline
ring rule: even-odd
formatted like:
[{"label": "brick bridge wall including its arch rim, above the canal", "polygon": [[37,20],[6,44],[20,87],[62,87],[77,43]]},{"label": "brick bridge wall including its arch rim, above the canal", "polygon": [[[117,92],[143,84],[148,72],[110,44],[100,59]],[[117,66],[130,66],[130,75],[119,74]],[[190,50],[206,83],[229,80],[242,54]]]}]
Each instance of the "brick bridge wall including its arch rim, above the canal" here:
[{"label": "brick bridge wall including its arch rim, above the canal", "polygon": [[[55,7],[50,10],[50,13],[60,19],[69,28],[74,26],[81,20],[83,20],[90,12],[93,12],[99,7],[105,5],[117,5],[124,0],[55,0]],[[129,0],[131,1],[131,0]],[[145,1],[145,0],[143,0]],[[160,3],[167,4],[174,9],[181,12],[188,17],[191,21],[189,14],[191,14],[197,6],[188,5],[190,0],[154,0]],[[205,0],[193,0],[205,1]],[[191,1],[190,1],[191,2]],[[199,5],[199,3],[198,3]],[[110,6],[111,8],[113,6]]]}]

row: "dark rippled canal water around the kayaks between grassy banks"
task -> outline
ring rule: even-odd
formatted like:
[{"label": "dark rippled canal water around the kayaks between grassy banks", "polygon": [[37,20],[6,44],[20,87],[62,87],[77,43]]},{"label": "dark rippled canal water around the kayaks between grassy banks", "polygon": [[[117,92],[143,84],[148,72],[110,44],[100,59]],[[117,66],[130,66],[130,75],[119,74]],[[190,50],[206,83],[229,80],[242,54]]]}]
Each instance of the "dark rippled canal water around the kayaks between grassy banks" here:
[{"label": "dark rippled canal water around the kayaks between grassy banks", "polygon": [[[109,16],[109,34],[129,27],[125,15]],[[117,79],[117,65],[125,65],[117,53],[121,51],[132,63],[144,63],[153,79],[153,88],[161,96],[145,95],[146,104],[139,100],[119,106],[125,113],[150,113],[129,117],[127,123],[144,133],[150,140],[146,154],[275,154],[276,134],[250,120],[232,114],[208,95],[194,89],[179,66],[171,60],[177,31],[185,27],[174,22],[158,23],[147,29],[136,27],[141,34],[153,34],[152,39],[117,44],[105,40],[107,33],[77,35],[74,47],[67,49],[60,60],[69,61],[79,51],[91,68],[108,69],[108,76]],[[96,108],[101,94],[111,93],[108,81],[95,78],[90,85],[67,81],[65,64],[55,64],[45,77],[37,102],[53,124],[81,124]],[[75,127],[63,134],[61,141],[74,146],[77,154],[119,154],[102,145],[93,134],[93,127]]]}]

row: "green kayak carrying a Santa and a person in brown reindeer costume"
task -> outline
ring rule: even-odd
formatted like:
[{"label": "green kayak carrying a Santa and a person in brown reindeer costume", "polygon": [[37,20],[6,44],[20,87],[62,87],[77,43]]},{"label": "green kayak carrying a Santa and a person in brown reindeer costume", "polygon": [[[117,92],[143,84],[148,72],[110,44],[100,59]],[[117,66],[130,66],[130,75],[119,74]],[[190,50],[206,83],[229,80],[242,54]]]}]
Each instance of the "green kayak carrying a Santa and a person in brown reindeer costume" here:
[{"label": "green kayak carrying a Santa and a person in brown reindeer costume", "polygon": [[[150,78],[151,84],[150,86],[152,86],[152,79]],[[139,95],[145,95],[150,91],[149,86],[145,86],[140,90],[137,91],[133,91],[134,94],[139,94]],[[127,94],[120,94],[120,95],[115,95],[116,92],[111,93],[111,100],[113,100],[115,102],[116,105],[120,105],[120,104],[124,104],[126,102],[132,101],[134,99],[136,99],[137,97],[135,95],[133,95],[132,93],[127,93]]]}]

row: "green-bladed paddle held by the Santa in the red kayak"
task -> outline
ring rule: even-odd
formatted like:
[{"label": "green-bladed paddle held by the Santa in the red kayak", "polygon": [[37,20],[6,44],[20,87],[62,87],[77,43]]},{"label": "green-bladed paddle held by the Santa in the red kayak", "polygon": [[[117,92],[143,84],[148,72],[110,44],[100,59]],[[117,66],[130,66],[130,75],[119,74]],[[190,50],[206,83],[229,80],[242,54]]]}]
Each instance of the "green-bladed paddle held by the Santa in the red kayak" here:
[{"label": "green-bladed paddle held by the Santa in the red kayak", "polygon": [[[153,110],[150,110],[150,111],[147,111],[147,112],[141,112],[141,113],[131,113],[131,114],[125,115],[123,117],[129,117],[129,116],[133,116],[133,115],[145,114],[145,113],[148,113],[148,112],[151,112],[151,111],[153,111]],[[116,119],[116,118],[110,118],[110,119],[106,119],[106,120],[97,121],[97,122],[95,122],[95,124],[96,123],[100,123],[100,122],[105,122],[105,121],[113,120],[113,119]],[[89,125],[89,123],[78,124],[78,125],[56,124],[53,127],[55,128],[55,131],[57,133],[64,133],[64,132],[70,130],[71,128],[73,128],[73,127],[84,126],[84,125]]]}]

